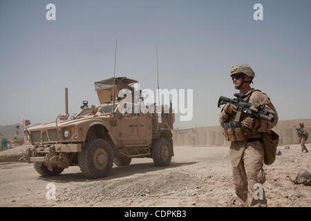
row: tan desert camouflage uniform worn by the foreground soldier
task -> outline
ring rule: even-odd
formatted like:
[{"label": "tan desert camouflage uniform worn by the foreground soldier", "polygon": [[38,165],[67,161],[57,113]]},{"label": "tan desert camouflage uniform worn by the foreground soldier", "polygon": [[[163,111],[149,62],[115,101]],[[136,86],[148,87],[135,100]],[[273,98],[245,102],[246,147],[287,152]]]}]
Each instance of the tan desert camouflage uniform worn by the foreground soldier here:
[{"label": "tan desert camouflage uniform worn by the foreground soldier", "polygon": [[[254,90],[252,88],[245,94],[245,102],[251,104],[266,104],[265,109],[268,111],[276,110],[267,95],[261,91]],[[225,107],[220,113],[220,125],[225,122],[233,122],[235,115],[228,115],[224,111]],[[247,129],[247,139],[261,138],[263,133],[270,131],[271,128],[276,126],[278,122],[277,115],[270,115],[274,117],[274,122],[267,122],[260,119],[259,128]],[[241,121],[246,116],[242,117]],[[265,172],[263,171],[263,157],[264,146],[260,141],[254,142],[232,142],[229,150],[229,157],[232,163],[232,171],[234,177],[234,185],[236,189],[236,195],[241,200],[243,206],[267,206],[267,199],[265,198],[265,192],[263,191],[263,198],[254,199],[254,184],[265,182]]]}]

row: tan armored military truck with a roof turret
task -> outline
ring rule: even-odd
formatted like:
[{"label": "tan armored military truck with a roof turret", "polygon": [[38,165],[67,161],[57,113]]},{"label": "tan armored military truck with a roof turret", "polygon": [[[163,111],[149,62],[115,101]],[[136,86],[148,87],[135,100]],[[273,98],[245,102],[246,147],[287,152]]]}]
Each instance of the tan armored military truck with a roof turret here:
[{"label": "tan armored military truck with a roof turret", "polygon": [[156,111],[119,111],[124,99],[117,97],[119,91],[128,89],[133,93],[137,82],[126,77],[97,81],[95,91],[100,105],[88,107],[84,102],[82,111],[70,119],[68,114],[58,115],[55,122],[26,128],[25,136],[32,146],[22,159],[33,163],[44,176],[79,166],[86,177],[106,177],[113,163],[126,166],[134,157],[152,157],[156,166],[168,166],[174,155],[171,130],[175,118],[171,105],[169,113],[164,113],[161,106],[160,122]]}]

